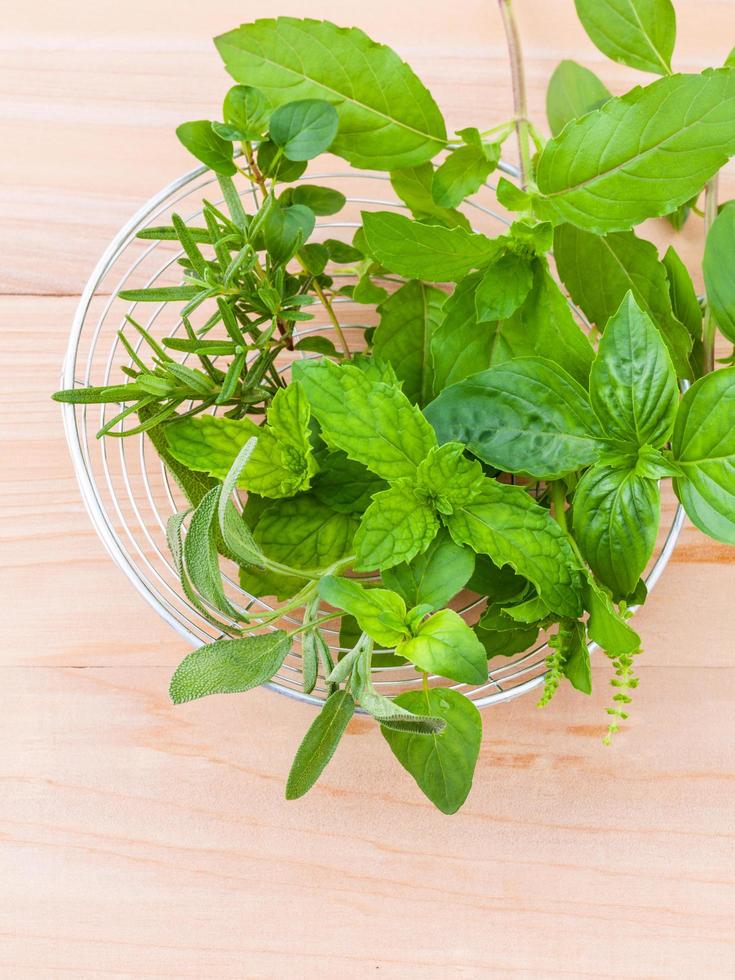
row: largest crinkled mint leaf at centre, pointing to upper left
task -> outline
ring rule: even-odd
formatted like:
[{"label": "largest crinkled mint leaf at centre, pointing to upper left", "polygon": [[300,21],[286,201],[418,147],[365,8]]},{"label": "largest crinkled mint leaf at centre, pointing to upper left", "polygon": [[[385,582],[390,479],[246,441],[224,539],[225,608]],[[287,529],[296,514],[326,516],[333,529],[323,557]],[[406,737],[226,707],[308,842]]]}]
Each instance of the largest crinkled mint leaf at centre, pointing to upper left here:
[{"label": "largest crinkled mint leaf at centre, pointing to upper left", "polygon": [[372,382],[352,365],[300,361],[294,375],[327,443],[385,480],[415,476],[436,444],[431,426],[400,389]]}]

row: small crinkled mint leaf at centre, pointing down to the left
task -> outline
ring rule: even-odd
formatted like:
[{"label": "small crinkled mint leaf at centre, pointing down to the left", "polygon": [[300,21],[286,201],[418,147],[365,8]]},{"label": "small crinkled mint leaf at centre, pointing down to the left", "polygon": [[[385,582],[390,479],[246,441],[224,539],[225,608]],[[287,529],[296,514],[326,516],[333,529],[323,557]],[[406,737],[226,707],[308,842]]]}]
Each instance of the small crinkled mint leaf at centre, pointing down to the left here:
[{"label": "small crinkled mint leaf at centre, pointing down to the left", "polygon": [[429,546],[439,520],[426,497],[399,480],[373,498],[355,534],[355,570],[368,572],[410,561]]}]

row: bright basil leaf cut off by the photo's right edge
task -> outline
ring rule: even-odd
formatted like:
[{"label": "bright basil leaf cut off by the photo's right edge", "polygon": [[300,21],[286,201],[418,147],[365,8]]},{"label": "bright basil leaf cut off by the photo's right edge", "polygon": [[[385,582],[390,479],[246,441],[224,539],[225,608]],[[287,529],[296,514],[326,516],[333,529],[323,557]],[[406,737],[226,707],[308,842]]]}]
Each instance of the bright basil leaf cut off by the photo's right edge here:
[{"label": "bright basil leaf cut off by the photo's right edge", "polygon": [[674,458],[684,475],[674,489],[690,519],[735,544],[735,367],[700,378],[684,395],[674,425]]}]

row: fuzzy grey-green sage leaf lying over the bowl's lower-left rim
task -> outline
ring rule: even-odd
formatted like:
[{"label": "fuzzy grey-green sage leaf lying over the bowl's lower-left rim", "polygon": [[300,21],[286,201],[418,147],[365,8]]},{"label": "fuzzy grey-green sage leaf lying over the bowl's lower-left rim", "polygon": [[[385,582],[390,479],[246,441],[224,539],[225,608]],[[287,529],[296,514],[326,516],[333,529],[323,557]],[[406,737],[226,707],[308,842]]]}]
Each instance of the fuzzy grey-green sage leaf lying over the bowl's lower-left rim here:
[{"label": "fuzzy grey-green sage leaf lying over the bowl's lower-left rim", "polygon": [[291,637],[283,630],[215,640],[181,661],[171,678],[171,700],[181,704],[260,687],[278,672],[290,649]]}]

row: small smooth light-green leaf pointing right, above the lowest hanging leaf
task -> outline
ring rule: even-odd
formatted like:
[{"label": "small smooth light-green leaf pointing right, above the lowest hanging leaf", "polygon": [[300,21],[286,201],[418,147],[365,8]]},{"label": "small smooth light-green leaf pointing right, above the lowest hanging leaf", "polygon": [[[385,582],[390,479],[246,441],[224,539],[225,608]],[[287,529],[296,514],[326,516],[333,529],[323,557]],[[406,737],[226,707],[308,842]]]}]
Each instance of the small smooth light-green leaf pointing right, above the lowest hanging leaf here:
[{"label": "small smooth light-green leaf pointing right, above the lowest hanging leaf", "polygon": [[424,620],[396,653],[425,671],[465,684],[484,684],[487,657],[482,644],[453,609],[441,609]]}]

